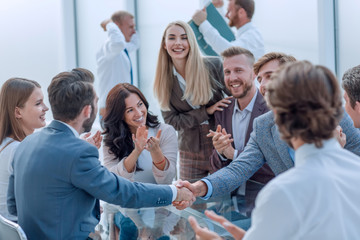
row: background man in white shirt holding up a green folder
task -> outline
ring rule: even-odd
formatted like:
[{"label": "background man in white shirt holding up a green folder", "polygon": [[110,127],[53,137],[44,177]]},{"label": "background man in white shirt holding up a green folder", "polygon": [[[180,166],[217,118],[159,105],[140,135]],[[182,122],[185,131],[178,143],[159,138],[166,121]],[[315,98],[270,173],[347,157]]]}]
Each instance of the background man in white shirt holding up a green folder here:
[{"label": "background man in white shirt holding up a green folder", "polygon": [[231,46],[238,46],[249,50],[257,60],[265,54],[265,48],[260,32],[251,22],[254,11],[254,0],[229,0],[226,17],[229,19],[229,26],[237,29],[236,39],[232,42],[223,38],[206,20],[206,9],[196,11],[192,19],[199,26],[199,31],[204,35],[205,41],[217,54],[220,55]]}]

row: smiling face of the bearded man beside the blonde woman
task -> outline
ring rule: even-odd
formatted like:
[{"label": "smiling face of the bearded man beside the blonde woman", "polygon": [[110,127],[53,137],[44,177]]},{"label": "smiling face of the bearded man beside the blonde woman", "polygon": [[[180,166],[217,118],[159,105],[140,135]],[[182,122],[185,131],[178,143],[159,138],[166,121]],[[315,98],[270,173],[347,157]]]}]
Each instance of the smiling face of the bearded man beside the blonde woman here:
[{"label": "smiling face of the bearded man beside the blonde woman", "polygon": [[253,87],[255,74],[244,54],[224,58],[225,86],[234,98],[247,96]]}]

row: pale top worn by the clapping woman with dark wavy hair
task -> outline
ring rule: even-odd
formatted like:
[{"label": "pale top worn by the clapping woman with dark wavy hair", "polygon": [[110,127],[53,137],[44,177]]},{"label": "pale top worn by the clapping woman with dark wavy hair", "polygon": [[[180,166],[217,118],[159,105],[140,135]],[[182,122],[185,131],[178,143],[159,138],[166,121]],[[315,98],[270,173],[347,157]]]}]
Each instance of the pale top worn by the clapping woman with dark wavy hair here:
[{"label": "pale top worn by the clapping woman with dark wavy hair", "polygon": [[168,124],[160,123],[157,128],[149,128],[148,138],[155,137],[158,130],[161,129],[160,149],[169,163],[165,166],[164,171],[155,167],[152,163],[151,154],[143,150],[138,158],[139,167],[143,171],[128,172],[124,167],[124,157],[121,161],[114,159],[114,154],[109,153],[109,147],[103,146],[104,166],[109,171],[127,178],[131,181],[144,183],[171,184],[176,173],[176,159],[178,152],[178,142],[175,129]]}]

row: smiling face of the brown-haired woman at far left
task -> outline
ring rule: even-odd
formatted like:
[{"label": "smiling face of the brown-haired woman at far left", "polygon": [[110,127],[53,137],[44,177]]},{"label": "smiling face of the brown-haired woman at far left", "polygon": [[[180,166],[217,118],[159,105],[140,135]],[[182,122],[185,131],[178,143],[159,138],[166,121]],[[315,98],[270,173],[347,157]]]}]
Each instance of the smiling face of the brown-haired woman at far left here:
[{"label": "smiling face of the brown-haired woman at far left", "polygon": [[41,88],[35,87],[23,107],[16,107],[15,117],[20,122],[26,135],[34,132],[36,128],[46,125],[45,113],[49,108],[44,104],[44,95]]}]

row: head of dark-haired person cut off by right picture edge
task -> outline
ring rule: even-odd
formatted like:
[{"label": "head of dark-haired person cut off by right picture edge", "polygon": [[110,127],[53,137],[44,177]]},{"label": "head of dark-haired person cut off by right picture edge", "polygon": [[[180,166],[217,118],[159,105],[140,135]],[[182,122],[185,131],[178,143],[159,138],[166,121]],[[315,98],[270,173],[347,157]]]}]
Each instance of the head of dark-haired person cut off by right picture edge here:
[{"label": "head of dark-haired person cut off by right picture edge", "polygon": [[348,69],[342,79],[344,88],[345,110],[360,128],[360,65]]}]

